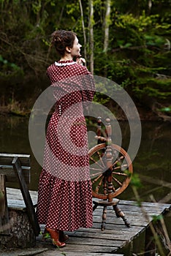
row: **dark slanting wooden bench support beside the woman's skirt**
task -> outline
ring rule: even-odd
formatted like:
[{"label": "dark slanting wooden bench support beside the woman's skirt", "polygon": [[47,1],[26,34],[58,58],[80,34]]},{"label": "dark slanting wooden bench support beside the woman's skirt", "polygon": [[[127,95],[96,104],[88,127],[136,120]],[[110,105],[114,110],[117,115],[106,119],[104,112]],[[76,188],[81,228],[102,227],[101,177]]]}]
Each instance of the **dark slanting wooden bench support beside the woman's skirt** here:
[{"label": "dark slanting wooden bench support beside the woman's skirt", "polygon": [[35,236],[39,236],[40,228],[39,228],[39,223],[37,221],[37,215],[34,210],[34,206],[33,206],[32,200],[31,200],[30,193],[28,192],[28,187],[26,185],[26,181],[24,180],[23,175],[22,175],[22,169],[21,169],[20,160],[18,159],[18,157],[14,157],[14,159],[12,160],[12,166],[14,167],[15,173],[18,176],[18,180],[20,182],[20,190],[23,195],[23,200],[26,204],[26,211],[28,213],[28,218],[33,227],[34,234],[35,234]]}]

